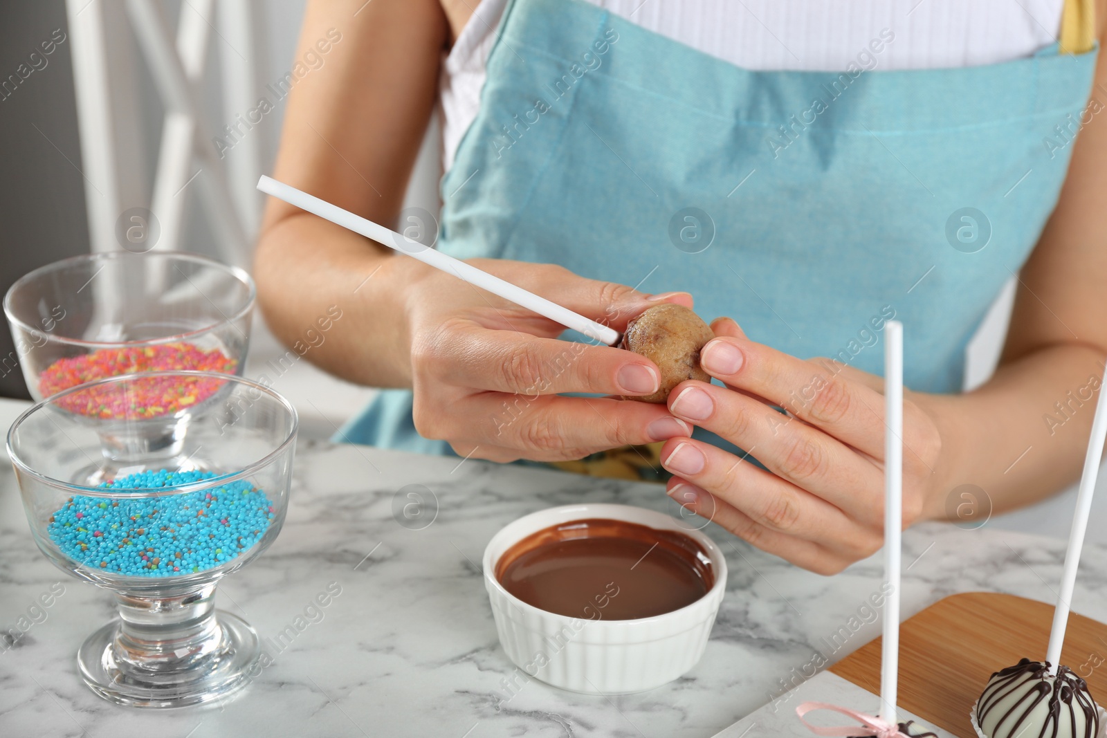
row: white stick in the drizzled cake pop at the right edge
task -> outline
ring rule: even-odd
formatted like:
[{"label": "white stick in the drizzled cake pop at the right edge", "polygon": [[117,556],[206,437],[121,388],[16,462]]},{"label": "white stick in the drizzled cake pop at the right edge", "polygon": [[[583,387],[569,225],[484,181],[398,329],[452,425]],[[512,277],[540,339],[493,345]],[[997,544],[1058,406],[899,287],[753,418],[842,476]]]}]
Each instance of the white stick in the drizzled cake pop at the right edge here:
[{"label": "white stick in the drizzled cake pop at the right edge", "polygon": [[[1107,382],[1107,370],[1104,372],[1104,382]],[[1068,625],[1068,611],[1073,602],[1073,589],[1076,586],[1076,570],[1080,565],[1080,549],[1084,548],[1084,533],[1088,529],[1088,516],[1092,512],[1092,495],[1096,489],[1096,477],[1099,475],[1099,462],[1103,460],[1104,441],[1107,440],[1105,396],[1107,386],[1100,384],[1096,414],[1092,420],[1092,437],[1088,439],[1088,451],[1084,456],[1084,474],[1080,476],[1080,487],[1076,492],[1076,512],[1073,516],[1073,529],[1068,533],[1065,571],[1061,576],[1057,606],[1053,611],[1049,647],[1045,652],[1045,659],[1049,662],[1049,674],[1053,675],[1057,674],[1057,666],[1061,665],[1061,647],[1065,643],[1065,627]]]}]

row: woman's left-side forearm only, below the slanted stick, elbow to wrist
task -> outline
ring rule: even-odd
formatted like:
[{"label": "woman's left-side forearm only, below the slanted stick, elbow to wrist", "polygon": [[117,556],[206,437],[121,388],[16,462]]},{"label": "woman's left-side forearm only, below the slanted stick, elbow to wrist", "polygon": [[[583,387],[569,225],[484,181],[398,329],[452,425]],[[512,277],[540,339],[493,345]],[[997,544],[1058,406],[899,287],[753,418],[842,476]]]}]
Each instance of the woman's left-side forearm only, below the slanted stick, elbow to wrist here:
[{"label": "woman's left-side forearm only, below the slanted stick, elbow to wrist", "polygon": [[266,322],[284,345],[350,382],[410,387],[404,300],[424,271],[414,259],[303,214],[267,229],[255,276]]}]

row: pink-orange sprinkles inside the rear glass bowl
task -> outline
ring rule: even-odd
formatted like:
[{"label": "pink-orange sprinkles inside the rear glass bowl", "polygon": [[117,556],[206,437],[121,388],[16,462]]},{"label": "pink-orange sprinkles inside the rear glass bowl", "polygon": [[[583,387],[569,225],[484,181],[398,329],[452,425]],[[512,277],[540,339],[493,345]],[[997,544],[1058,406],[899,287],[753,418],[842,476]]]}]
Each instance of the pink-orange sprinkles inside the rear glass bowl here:
[{"label": "pink-orange sprinkles inside the rear glass bowl", "polygon": [[[203,351],[190,343],[100,349],[59,358],[39,375],[39,389],[49,397],[85,382],[121,374],[198,371],[234,374],[238,362],[218,349]],[[138,377],[124,385],[108,384],[76,392],[59,401],[71,413],[112,418],[144,418],[177,413],[210,397],[223,382],[190,377]]]}]

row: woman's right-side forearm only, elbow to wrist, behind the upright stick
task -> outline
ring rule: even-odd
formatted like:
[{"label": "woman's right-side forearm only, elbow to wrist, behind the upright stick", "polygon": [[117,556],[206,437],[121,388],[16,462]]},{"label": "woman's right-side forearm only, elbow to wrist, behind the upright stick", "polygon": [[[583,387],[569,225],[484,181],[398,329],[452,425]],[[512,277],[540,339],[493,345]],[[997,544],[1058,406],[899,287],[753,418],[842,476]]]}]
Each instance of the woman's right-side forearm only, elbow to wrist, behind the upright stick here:
[{"label": "woman's right-side forearm only, elbow to wrist, behind the upright stick", "polygon": [[946,498],[964,484],[983,489],[996,513],[1072,484],[1087,447],[1105,357],[1086,344],[1053,344],[1002,364],[971,393],[917,396],[942,437],[924,516],[948,517]]}]

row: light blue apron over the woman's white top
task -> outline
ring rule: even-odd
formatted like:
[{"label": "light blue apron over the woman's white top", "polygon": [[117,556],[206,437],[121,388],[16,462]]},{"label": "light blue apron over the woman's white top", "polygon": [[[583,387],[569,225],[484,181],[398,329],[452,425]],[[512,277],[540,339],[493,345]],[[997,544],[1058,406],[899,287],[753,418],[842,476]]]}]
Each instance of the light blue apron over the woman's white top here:
[{"label": "light blue apron over the woman's white top", "polygon": [[[1096,56],[880,71],[892,28],[842,74],[755,72],[578,0],[517,0],[499,30],[443,251],[686,290],[705,320],[877,374],[894,316],[906,384],[932,393],[961,391],[1056,204]],[[448,454],[411,408],[384,391],[337,438]]]}]

